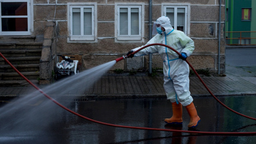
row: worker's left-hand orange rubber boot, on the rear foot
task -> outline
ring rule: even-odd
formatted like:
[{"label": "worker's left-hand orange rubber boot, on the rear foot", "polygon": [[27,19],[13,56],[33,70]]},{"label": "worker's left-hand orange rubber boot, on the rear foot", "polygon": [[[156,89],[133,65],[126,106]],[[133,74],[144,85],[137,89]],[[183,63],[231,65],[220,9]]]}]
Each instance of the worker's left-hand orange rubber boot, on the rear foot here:
[{"label": "worker's left-hand orange rubber boot, on the rear foot", "polygon": [[182,124],[182,105],[172,102],[172,117],[165,118],[164,122],[167,124]]}]

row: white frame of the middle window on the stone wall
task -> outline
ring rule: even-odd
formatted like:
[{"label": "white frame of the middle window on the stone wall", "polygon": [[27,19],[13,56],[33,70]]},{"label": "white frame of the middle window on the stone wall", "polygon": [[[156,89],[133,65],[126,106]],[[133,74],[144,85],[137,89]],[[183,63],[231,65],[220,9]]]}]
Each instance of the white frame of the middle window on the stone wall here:
[{"label": "white frame of the middle window on the stone wall", "polygon": [[[115,3],[115,42],[116,43],[134,43],[134,42],[144,42],[144,6],[145,3]],[[120,8],[138,8],[139,9],[139,35],[131,35],[131,27],[129,23],[129,34],[128,35],[120,35],[119,33],[119,9]],[[131,21],[129,11],[129,22]]]}]

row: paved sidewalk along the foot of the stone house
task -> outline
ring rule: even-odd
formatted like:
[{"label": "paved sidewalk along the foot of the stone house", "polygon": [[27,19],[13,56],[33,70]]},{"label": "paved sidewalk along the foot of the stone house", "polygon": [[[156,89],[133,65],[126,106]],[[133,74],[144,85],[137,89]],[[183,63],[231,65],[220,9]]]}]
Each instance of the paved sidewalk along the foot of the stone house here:
[{"label": "paved sidewalk along the foot of the stone house", "polygon": [[[226,65],[226,77],[202,77],[203,81],[216,96],[256,95],[256,72]],[[0,87],[0,98],[22,97],[35,91],[34,87]],[[191,95],[209,96],[210,93],[197,77],[190,77]],[[74,93],[74,95],[76,95]],[[83,95],[79,97],[166,97],[163,77],[148,76],[103,76]]]}]

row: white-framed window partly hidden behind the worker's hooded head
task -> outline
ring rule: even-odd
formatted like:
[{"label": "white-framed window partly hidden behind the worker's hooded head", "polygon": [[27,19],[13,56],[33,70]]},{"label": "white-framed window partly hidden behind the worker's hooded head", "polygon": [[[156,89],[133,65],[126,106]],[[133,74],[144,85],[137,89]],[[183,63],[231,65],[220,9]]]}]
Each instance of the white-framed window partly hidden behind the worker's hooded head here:
[{"label": "white-framed window partly hidden behind the worker's hooded head", "polygon": [[164,15],[170,18],[173,29],[187,34],[187,6],[164,6]]}]

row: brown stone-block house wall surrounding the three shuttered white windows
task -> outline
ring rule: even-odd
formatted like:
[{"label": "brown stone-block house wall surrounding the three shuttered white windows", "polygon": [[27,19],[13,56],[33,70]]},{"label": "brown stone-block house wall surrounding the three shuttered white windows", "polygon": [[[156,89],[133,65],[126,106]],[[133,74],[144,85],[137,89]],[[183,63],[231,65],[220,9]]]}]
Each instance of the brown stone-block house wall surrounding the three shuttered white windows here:
[{"label": "brown stone-block house wall surrounding the three shuttered white windows", "polygon": [[[76,57],[79,60],[79,70],[89,69],[102,63],[115,60],[125,55],[135,47],[145,45],[148,41],[148,0],[146,1],[86,1],[97,2],[97,42],[96,43],[69,43],[68,42],[68,3],[85,2],[83,0],[34,0],[34,34],[44,35],[47,21],[56,22],[57,53]],[[195,69],[218,71],[218,37],[219,37],[219,0],[182,0],[182,1],[152,1],[153,21],[162,14],[163,3],[189,4],[188,36],[195,41],[195,51],[188,58]],[[144,37],[143,43],[116,43],[115,42],[115,3],[145,3]],[[225,40],[223,39],[223,26],[225,21],[225,1],[221,1],[221,73],[225,73]],[[55,10],[56,6],[56,10]],[[55,13],[55,17],[54,17]],[[222,23],[223,22],[223,23]],[[153,55],[153,68],[162,68],[159,55]],[[148,56],[136,59],[119,61],[114,69],[148,69]]]}]

